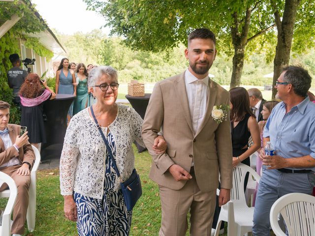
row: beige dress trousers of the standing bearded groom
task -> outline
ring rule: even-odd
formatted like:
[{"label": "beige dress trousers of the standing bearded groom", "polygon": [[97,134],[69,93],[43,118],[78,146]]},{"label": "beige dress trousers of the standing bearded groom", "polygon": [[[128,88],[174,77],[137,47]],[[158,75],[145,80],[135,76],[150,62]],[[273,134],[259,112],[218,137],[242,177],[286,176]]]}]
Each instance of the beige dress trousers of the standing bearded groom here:
[{"label": "beige dress trousers of the standing bearded groom", "polygon": [[200,191],[193,169],[192,179],[180,190],[159,185],[162,221],[159,236],[185,236],[190,212],[190,236],[210,236],[216,207],[216,190]]}]

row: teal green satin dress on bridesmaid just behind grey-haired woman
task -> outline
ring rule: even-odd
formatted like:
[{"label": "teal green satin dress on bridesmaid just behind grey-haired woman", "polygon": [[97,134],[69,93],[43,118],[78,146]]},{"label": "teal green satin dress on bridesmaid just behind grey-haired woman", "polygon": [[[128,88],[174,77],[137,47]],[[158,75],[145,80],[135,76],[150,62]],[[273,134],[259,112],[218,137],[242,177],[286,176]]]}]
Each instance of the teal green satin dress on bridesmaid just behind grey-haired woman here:
[{"label": "teal green satin dress on bridesmaid just behind grey-haired woman", "polygon": [[90,99],[88,94],[88,79],[78,80],[77,97],[73,103],[73,116],[90,106]]}]

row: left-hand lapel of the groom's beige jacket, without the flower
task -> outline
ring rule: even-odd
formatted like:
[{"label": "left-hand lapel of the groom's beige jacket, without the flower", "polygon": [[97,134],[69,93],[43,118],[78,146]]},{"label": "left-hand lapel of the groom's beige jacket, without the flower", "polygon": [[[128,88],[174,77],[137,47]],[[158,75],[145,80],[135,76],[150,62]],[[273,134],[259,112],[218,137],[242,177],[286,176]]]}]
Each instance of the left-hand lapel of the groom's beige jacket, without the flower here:
[{"label": "left-hand lapel of the groom's beige jacket, without the flower", "polygon": [[180,74],[174,83],[175,83],[176,94],[177,94],[177,97],[179,98],[179,103],[181,104],[181,107],[184,112],[187,123],[189,125],[189,128],[191,132],[193,132],[192,121],[191,121],[191,116],[190,116],[190,111],[189,111],[188,97],[187,97],[187,92],[186,92],[186,85],[185,85],[185,72]]}]

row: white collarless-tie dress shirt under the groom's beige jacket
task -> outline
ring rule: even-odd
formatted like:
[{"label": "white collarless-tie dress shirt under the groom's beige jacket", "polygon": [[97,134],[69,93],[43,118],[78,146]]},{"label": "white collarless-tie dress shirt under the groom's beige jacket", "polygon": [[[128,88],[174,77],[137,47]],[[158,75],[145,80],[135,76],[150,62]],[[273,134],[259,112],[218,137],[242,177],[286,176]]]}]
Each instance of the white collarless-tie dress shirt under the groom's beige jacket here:
[{"label": "white collarless-tie dress shirt under the groom's beige jacket", "polygon": [[194,133],[196,133],[206,115],[209,76],[207,75],[202,80],[199,80],[187,69],[185,72],[185,85],[192,128]]}]

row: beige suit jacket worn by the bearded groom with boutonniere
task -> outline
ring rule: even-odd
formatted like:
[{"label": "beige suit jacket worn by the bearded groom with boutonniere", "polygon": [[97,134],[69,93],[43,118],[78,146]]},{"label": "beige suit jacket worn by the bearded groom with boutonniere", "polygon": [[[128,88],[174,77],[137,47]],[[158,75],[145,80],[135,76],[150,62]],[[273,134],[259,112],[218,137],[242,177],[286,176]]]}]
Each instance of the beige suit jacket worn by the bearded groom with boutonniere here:
[{"label": "beige suit jacket worn by the bearded groom with boutonniere", "polygon": [[[219,172],[221,187],[232,188],[229,114],[220,124],[211,117],[214,105],[229,105],[229,102],[229,92],[209,79],[206,116],[194,134],[185,72],[159,81],[153,89],[142,126],[143,141],[154,162],[150,178],[159,185],[179,190],[186,181],[176,181],[167,170],[175,163],[189,172],[193,161],[196,181],[202,192],[218,188]],[[167,150],[165,154],[156,154],[152,146],[161,127]]]}]

